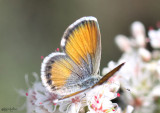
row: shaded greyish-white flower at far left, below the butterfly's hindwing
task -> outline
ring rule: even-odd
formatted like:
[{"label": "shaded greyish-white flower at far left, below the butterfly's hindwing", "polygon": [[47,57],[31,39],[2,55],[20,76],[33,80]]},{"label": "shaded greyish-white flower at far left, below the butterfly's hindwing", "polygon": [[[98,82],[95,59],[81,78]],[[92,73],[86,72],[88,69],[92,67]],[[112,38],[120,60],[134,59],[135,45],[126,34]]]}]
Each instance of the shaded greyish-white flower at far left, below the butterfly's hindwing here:
[{"label": "shaded greyish-white flower at far left, below the butterfly's hindwing", "polygon": [[[56,105],[53,100],[57,95],[51,94],[38,81],[38,75],[34,74],[37,81],[32,87],[29,87],[27,96],[27,113],[53,113],[56,110]],[[27,83],[28,84],[28,83]]]}]

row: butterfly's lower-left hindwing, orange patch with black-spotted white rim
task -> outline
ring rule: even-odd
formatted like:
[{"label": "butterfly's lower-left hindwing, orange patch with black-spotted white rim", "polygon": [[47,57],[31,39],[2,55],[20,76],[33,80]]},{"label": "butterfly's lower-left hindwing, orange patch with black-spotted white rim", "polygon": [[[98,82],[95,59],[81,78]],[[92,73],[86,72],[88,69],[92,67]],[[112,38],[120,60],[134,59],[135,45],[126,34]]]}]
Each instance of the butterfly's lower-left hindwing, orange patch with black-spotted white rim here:
[{"label": "butterfly's lower-left hindwing, orange patch with black-spotted white rim", "polygon": [[82,75],[79,67],[68,56],[60,52],[45,57],[41,67],[43,84],[50,92],[59,95],[67,95],[78,91],[78,88],[72,89],[78,81],[81,81]]}]

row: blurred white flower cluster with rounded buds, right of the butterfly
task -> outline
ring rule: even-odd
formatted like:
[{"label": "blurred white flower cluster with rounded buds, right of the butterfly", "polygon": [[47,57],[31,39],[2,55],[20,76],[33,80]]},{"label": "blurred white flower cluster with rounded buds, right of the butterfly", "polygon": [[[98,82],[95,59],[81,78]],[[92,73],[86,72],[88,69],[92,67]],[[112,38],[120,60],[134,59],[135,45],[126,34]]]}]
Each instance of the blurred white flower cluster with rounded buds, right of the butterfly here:
[{"label": "blurred white flower cluster with rounded buds, right of the butterfly", "polygon": [[126,62],[119,71],[121,100],[134,107],[134,113],[160,112],[160,29],[150,28],[148,37],[141,22],[131,25],[131,37],[118,35],[115,42],[123,52],[118,62],[109,62],[102,73]]}]

